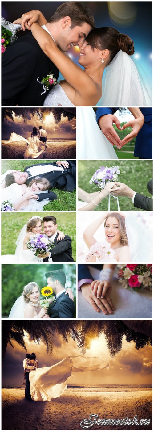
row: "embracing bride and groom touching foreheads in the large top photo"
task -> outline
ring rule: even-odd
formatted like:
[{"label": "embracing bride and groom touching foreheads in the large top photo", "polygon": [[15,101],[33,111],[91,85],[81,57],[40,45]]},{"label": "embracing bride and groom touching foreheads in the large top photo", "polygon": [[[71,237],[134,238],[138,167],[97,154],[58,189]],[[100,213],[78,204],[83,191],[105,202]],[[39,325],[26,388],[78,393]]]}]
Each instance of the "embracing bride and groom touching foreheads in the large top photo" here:
[{"label": "embracing bride and groom touching foreheads in the large top photo", "polygon": [[[95,106],[100,99],[104,106],[152,105],[148,79],[130,58],[131,37],[112,27],[97,29],[84,3],[62,3],[48,22],[35,10],[14,24],[31,32],[3,54],[2,105]],[[66,55],[76,45],[84,70]],[[59,71],[64,80],[57,83]]]}]

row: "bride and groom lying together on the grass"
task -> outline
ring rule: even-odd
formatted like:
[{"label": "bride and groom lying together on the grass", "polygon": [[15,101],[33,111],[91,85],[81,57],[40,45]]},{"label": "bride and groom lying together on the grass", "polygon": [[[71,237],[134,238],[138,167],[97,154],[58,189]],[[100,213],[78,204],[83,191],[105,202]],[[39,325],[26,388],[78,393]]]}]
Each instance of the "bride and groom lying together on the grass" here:
[{"label": "bride and groom lying together on the grass", "polygon": [[76,161],[46,162],[29,165],[24,172],[9,170],[2,175],[1,200],[10,201],[14,210],[44,210],[43,207],[57,194],[51,188],[74,191]]}]

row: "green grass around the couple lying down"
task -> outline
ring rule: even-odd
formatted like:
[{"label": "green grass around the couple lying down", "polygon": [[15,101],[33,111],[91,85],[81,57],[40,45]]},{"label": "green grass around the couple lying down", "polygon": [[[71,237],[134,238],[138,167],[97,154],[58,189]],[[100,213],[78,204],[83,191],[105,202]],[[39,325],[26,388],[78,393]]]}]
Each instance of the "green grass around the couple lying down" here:
[{"label": "green grass around the couple lying down", "polygon": [[[46,162],[49,161],[43,161],[43,163]],[[56,162],[56,160],[51,160],[50,162]],[[8,169],[24,171],[25,166],[36,165],[40,163],[40,160],[35,160],[35,162],[33,160],[5,160],[2,161],[2,174]],[[67,192],[60,191],[54,187],[52,190],[55,192],[55,194],[57,194],[57,200],[50,201],[50,203],[44,206],[44,210],[76,210],[76,189],[73,192]]]}]

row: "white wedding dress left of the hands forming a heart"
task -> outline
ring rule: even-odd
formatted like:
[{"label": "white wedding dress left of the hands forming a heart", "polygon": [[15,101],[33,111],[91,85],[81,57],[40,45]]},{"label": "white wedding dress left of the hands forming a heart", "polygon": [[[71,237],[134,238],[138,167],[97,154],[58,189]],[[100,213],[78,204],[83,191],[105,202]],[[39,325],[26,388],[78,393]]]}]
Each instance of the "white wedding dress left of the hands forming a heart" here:
[{"label": "white wedding dress left of the hands forming a heart", "polygon": [[[76,108],[78,159],[118,159],[116,152],[102,133],[91,107]],[[98,162],[99,168],[99,162]]]}]

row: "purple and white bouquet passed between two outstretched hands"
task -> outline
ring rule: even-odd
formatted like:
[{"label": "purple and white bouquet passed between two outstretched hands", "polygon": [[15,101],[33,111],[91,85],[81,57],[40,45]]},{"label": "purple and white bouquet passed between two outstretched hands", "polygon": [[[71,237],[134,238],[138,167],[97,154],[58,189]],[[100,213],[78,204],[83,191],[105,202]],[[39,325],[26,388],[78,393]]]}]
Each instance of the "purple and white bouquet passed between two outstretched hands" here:
[{"label": "purple and white bouquet passed between two outstretched hands", "polygon": [[118,181],[118,176],[120,174],[121,171],[118,165],[112,165],[110,168],[108,168],[108,166],[101,166],[101,168],[98,168],[97,171],[94,172],[89,183],[94,185],[94,189],[104,189],[106,184],[110,181]]}]

